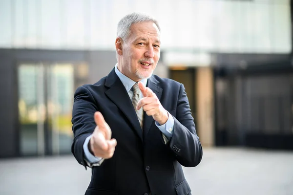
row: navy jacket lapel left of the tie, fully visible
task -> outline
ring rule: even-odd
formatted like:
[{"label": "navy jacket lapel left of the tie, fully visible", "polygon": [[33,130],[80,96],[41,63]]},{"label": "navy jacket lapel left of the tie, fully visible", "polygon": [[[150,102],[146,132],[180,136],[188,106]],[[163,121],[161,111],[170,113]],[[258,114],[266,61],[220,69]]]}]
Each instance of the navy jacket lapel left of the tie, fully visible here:
[{"label": "navy jacket lapel left of the tie, fully visible", "polygon": [[136,112],[124,85],[116,75],[114,69],[107,76],[105,86],[109,87],[109,89],[105,91],[105,94],[125,114],[130,124],[133,126],[135,133],[137,133],[143,141],[143,132],[136,116]]}]

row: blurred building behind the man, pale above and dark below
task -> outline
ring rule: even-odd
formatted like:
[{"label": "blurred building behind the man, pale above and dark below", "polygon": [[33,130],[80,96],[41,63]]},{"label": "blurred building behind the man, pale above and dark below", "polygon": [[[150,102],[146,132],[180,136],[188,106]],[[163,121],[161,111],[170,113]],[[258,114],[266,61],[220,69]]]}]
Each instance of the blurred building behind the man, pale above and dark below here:
[{"label": "blurred building behind the man, pale above and dark below", "polygon": [[70,153],[77,87],[116,64],[118,21],[161,24],[155,74],[206,147],[293,149],[291,0],[0,0],[0,157]]}]

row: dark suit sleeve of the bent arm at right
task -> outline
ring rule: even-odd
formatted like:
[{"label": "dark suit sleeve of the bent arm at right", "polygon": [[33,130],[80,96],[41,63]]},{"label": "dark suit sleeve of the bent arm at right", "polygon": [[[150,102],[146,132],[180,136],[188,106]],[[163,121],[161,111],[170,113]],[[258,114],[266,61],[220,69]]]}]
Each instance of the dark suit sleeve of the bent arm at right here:
[{"label": "dark suit sleeve of the bent arm at right", "polygon": [[202,159],[202,146],[196,134],[188,98],[182,84],[180,85],[176,117],[174,117],[174,130],[169,140],[169,147],[182,166],[195,167]]}]

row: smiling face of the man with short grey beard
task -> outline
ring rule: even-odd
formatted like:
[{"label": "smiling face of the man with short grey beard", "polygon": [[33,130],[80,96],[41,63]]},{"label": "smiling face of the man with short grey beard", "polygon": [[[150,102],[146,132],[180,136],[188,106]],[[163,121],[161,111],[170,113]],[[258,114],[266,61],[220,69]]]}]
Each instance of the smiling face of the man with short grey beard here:
[{"label": "smiling face of the man with short grey beard", "polygon": [[160,31],[153,22],[131,25],[118,69],[133,81],[149,78],[160,59]]}]

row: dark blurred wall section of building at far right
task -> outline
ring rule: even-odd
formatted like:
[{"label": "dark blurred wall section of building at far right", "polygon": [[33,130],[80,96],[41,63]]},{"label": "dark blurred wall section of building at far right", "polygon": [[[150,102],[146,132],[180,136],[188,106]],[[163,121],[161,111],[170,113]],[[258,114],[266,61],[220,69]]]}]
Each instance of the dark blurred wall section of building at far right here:
[{"label": "dark blurred wall section of building at far right", "polygon": [[293,149],[293,73],[215,79],[217,145]]}]

